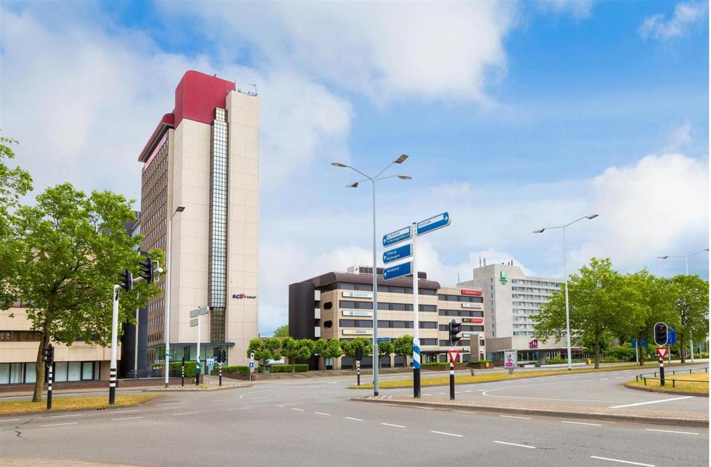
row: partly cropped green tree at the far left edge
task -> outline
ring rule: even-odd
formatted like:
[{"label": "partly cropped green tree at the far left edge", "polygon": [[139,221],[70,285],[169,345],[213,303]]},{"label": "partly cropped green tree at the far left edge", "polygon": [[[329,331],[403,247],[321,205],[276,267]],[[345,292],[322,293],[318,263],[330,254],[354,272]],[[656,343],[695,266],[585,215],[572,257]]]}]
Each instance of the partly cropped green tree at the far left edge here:
[{"label": "partly cropped green tree at the far left edge", "polygon": [[11,279],[17,275],[20,247],[16,235],[16,209],[20,198],[32,190],[32,178],[20,167],[9,168],[4,160],[14,159],[11,145],[17,141],[0,136],[0,310],[18,299]]}]

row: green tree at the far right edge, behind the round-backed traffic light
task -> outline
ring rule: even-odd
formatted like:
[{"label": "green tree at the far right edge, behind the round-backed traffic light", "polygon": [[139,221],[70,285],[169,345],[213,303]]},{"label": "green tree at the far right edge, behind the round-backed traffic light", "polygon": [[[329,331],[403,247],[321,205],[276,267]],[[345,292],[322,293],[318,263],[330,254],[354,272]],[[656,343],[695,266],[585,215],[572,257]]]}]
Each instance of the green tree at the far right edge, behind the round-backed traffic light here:
[{"label": "green tree at the far right edge, behind the round-backed traffic light", "polygon": [[[679,275],[671,279],[672,309],[675,313],[676,336],[679,347],[688,348],[691,336],[708,334],[709,283],[698,276]],[[685,363],[684,352],[681,362]]]}]

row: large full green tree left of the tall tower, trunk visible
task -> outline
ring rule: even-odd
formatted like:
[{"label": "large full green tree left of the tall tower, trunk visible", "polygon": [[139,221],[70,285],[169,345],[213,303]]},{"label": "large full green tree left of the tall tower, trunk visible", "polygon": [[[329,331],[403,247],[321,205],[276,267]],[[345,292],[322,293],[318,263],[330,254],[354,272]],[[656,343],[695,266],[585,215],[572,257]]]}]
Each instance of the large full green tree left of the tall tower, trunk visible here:
[{"label": "large full green tree left of the tall tower, trunk visible", "polygon": [[[33,401],[42,400],[42,349],[50,341],[109,345],[113,286],[124,269],[139,274],[141,238],[129,237],[123,226],[134,219],[122,195],[94,191],[87,196],[70,183],[47,188],[36,205],[18,208],[20,254],[10,283],[40,333]],[[133,311],[159,293],[145,281],[130,294],[121,292],[119,323],[134,322]]]}]

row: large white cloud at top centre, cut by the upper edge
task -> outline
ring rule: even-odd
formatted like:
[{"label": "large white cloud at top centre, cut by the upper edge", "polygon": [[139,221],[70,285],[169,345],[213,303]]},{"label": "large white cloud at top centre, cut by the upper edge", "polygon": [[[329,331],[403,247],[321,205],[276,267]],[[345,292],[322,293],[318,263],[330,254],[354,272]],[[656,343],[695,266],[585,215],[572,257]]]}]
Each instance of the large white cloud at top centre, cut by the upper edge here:
[{"label": "large white cloud at top centre, cut by the upper edge", "polygon": [[250,41],[260,50],[259,60],[308,70],[375,102],[486,102],[492,73],[506,70],[502,42],[514,16],[513,5],[500,2],[165,6],[202,17],[205,32],[223,40]]}]

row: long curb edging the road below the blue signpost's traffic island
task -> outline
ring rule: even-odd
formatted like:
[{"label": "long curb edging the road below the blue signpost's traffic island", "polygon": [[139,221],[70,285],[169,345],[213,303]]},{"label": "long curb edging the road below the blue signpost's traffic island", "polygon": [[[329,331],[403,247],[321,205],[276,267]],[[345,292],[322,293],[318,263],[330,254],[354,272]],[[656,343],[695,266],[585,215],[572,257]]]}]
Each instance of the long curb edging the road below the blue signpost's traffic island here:
[{"label": "long curb edging the road below the blue signpost's traffic island", "polygon": [[353,397],[352,401],[357,402],[374,402],[376,404],[402,405],[405,407],[427,407],[431,409],[442,410],[463,410],[471,412],[503,412],[506,414],[518,415],[539,415],[542,417],[559,417],[567,419],[588,419],[588,420],[606,420],[608,422],[631,422],[631,423],[646,423],[658,425],[673,425],[673,426],[695,426],[700,428],[708,428],[708,419],[679,419],[679,418],[661,418],[661,417],[644,417],[641,415],[629,414],[605,414],[601,412],[574,412],[564,410],[547,410],[547,409],[526,409],[523,407],[496,407],[488,405],[475,404],[459,404],[457,402],[432,402],[432,401],[415,401],[415,400],[400,400],[400,399],[372,399],[369,397]]}]

